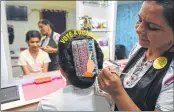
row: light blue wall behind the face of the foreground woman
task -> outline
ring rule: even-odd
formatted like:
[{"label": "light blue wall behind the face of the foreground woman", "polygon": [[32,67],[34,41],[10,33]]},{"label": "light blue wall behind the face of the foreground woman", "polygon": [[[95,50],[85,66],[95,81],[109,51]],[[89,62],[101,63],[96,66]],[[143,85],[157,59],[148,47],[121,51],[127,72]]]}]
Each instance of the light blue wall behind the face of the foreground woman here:
[{"label": "light blue wall behind the face of the foreground woman", "polygon": [[138,19],[138,12],[141,8],[141,2],[132,4],[118,5],[116,21],[116,44],[126,46],[127,55],[133,45],[138,41],[135,32],[135,23]]}]

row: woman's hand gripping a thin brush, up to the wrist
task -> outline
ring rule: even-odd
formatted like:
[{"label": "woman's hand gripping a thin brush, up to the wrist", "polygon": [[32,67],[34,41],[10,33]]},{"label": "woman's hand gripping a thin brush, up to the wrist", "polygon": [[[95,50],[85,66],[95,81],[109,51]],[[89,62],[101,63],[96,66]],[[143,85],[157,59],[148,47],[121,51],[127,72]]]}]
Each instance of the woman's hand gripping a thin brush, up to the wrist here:
[{"label": "woman's hand gripping a thin brush, up to the wrist", "polygon": [[115,97],[123,89],[119,74],[110,66],[99,72],[98,83],[100,89],[109,93],[112,97]]}]

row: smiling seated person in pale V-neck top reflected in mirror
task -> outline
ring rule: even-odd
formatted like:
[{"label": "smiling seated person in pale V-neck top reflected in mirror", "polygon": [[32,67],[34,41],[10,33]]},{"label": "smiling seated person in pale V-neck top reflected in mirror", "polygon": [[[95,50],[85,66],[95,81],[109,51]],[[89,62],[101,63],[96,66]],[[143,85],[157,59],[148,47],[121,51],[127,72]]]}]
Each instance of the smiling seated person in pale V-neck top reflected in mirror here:
[{"label": "smiling seated person in pale V-neck top reflected in mirror", "polygon": [[29,49],[21,52],[18,65],[22,66],[25,75],[48,71],[48,63],[51,61],[48,53],[40,48],[41,34],[37,30],[26,33],[26,42]]}]

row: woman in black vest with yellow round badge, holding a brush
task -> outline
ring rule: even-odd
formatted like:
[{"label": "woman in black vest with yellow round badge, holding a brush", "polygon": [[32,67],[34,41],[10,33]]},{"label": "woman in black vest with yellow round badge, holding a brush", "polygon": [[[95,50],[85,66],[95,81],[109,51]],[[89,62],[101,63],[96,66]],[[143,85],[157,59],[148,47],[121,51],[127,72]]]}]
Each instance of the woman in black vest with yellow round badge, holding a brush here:
[{"label": "woman in black vest with yellow round badge, holding a brush", "polygon": [[119,111],[174,111],[174,1],[144,1],[138,14],[139,44],[121,76],[113,68],[99,74],[99,87]]}]

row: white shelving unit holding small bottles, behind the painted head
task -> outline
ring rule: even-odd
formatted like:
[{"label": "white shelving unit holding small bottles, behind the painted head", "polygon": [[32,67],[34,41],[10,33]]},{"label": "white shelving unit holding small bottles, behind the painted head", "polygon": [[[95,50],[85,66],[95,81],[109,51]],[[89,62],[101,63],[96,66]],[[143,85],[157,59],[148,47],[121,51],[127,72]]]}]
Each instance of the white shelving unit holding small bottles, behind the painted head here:
[{"label": "white shelving unit holding small bottles, behind the painted head", "polygon": [[[104,19],[108,22],[107,30],[92,30],[91,32],[97,38],[109,38],[108,48],[102,49],[105,54],[109,54],[108,58],[114,60],[115,57],[115,33],[116,33],[116,12],[117,1],[109,1],[108,6],[87,5],[83,1],[76,1],[76,28],[80,29],[80,17],[88,15],[92,18]],[[102,47],[101,47],[102,48]]]}]

